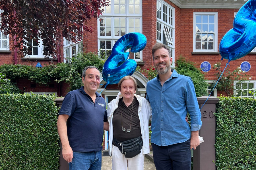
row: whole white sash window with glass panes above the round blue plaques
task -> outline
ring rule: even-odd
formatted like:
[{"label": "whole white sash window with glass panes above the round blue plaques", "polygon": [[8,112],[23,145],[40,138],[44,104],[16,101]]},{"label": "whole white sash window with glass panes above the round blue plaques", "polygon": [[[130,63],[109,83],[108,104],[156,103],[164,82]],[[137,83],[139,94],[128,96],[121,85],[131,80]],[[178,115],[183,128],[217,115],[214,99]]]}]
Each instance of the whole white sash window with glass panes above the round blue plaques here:
[{"label": "whole white sash window with glass panes above the round blue plaques", "polygon": [[194,12],[193,51],[218,51],[218,12]]}]

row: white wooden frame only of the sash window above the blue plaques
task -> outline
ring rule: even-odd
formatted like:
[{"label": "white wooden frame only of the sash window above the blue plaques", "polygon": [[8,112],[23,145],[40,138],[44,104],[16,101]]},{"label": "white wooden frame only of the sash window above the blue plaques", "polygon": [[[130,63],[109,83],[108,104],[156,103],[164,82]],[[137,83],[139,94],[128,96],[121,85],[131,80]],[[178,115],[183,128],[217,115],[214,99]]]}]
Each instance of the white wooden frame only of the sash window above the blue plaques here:
[{"label": "white wooden frame only of the sash window above the blue plaques", "polygon": [[[214,15],[214,43],[213,43],[213,50],[201,50],[196,49],[196,15]],[[209,33],[211,32],[201,32],[201,33]],[[207,41],[208,42],[208,41]],[[207,45],[208,46],[208,45]],[[217,52],[218,51],[218,12],[194,12],[193,14],[193,52]]]}]

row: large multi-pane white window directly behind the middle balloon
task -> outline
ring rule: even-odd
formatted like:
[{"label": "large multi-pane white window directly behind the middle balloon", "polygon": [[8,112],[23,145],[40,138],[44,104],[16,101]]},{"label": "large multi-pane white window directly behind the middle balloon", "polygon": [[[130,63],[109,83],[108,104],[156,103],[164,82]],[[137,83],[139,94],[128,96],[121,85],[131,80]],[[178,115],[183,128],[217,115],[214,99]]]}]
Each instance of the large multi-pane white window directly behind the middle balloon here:
[{"label": "large multi-pane white window directly behind the middle balloon", "polygon": [[[142,33],[142,0],[112,0],[104,10],[98,19],[98,51],[106,59],[120,37],[130,32]],[[142,60],[142,51],[130,52],[129,58]]]}]

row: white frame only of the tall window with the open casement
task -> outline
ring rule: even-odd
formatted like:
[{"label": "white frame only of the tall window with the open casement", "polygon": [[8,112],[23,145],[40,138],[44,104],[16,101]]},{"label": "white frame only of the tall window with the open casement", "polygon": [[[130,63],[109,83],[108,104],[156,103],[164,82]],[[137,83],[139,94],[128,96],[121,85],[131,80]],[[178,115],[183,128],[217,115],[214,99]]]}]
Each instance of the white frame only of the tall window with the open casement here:
[{"label": "white frame only of the tall window with the open casement", "polygon": [[[158,30],[158,28],[156,28],[156,32],[158,34],[158,36],[160,35],[160,39],[156,39],[156,42],[160,42],[160,43],[164,43],[163,42],[163,37],[165,36],[166,39],[166,45],[168,45],[168,47],[171,49],[171,56],[172,60],[173,60],[173,64],[171,67],[174,67],[174,63],[175,63],[175,8],[172,7],[171,5],[169,5],[168,3],[166,3],[165,1],[162,0],[157,0],[156,3],[161,3],[161,11],[160,11],[160,15],[159,18],[156,17],[156,24],[158,24],[158,28],[161,25],[160,30]],[[172,10],[172,25],[169,23],[166,23],[164,21],[164,15],[167,15],[168,18],[171,18],[171,16],[168,15],[168,13],[164,13],[164,6],[167,7],[167,10]],[[158,7],[159,8],[159,7]],[[158,10],[158,9],[157,9]],[[156,11],[157,13],[157,11]],[[168,19],[167,19],[168,22]],[[172,30],[172,33],[170,32],[170,29]],[[167,30],[167,31],[166,31]],[[172,34],[172,36],[171,36]]]}]

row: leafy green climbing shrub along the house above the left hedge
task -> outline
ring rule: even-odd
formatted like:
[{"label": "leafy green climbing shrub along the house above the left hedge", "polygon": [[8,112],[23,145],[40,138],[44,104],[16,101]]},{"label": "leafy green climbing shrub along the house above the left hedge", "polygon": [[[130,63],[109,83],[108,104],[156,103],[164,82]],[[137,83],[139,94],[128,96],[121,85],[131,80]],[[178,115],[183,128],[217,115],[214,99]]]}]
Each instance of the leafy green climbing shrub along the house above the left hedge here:
[{"label": "leafy green climbing shrub along the house above the left hedge", "polygon": [[89,52],[73,57],[71,63],[57,63],[42,68],[32,65],[3,64],[0,66],[0,72],[5,73],[6,77],[12,82],[18,78],[27,78],[40,85],[48,85],[52,80],[57,83],[63,81],[70,84],[71,88],[69,90],[75,90],[81,87],[82,71],[84,67],[89,65],[96,66],[101,71],[104,60],[97,54]]}]

